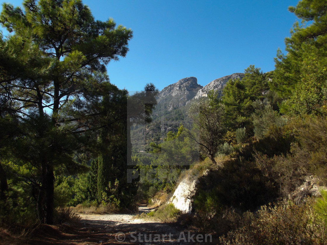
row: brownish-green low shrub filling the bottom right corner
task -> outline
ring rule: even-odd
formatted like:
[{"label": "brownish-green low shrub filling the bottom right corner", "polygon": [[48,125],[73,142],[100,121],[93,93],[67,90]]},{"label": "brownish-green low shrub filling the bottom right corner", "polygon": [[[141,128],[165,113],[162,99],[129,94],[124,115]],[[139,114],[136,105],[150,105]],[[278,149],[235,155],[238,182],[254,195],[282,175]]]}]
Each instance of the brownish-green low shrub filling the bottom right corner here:
[{"label": "brownish-green low shrub filling the bottom right corner", "polygon": [[305,204],[280,202],[275,207],[261,206],[257,218],[220,237],[229,245],[326,244],[326,228],[315,219],[313,199]]}]

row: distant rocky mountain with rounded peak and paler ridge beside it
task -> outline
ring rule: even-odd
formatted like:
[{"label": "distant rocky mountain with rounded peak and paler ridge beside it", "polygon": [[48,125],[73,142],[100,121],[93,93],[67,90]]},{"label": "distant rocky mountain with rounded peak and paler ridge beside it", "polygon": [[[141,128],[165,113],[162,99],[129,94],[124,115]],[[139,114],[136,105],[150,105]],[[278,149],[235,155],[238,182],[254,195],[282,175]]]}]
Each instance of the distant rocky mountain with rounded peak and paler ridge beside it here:
[{"label": "distant rocky mountain with rounded peak and paler ridge beside it", "polygon": [[[242,79],[243,73],[217,78],[206,86],[198,84],[196,77],[190,76],[178,80],[163,88],[157,96],[157,105],[152,112],[152,122],[131,129],[131,143],[137,151],[150,151],[149,142],[162,143],[169,131],[177,132],[181,123],[191,127],[188,117],[188,104],[196,99],[206,97],[210,90],[216,90],[219,96],[229,79]],[[141,136],[140,136],[141,135]]]}]

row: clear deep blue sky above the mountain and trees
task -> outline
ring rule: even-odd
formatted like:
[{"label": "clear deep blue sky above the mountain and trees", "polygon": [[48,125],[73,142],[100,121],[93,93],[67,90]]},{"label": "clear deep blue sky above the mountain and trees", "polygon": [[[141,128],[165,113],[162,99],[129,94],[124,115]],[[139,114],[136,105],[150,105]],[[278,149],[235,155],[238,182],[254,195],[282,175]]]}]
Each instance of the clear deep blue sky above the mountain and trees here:
[{"label": "clear deep blue sky above the mountain and trees", "polygon": [[[22,1],[8,0],[14,6]],[[249,65],[274,69],[278,48],[297,20],[297,0],[84,0],[95,19],[133,30],[125,58],[108,65],[111,83],[130,92],[162,90],[184,77],[204,86]],[[5,34],[5,33],[4,33]]]}]

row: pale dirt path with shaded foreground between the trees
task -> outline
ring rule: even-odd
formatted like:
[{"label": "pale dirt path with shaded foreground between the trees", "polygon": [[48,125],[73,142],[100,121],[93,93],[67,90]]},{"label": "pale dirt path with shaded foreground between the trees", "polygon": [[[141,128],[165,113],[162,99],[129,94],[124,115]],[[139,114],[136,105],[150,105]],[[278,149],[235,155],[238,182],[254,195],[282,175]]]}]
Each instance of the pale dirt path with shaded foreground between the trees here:
[{"label": "pale dirt path with shaded foreground between the trees", "polygon": [[[140,207],[140,212],[149,212]],[[28,244],[104,245],[104,244],[204,244],[204,237],[189,232],[177,224],[166,224],[150,219],[134,219],[130,214],[86,215],[81,220],[61,226],[44,226],[44,230]],[[45,235],[46,234],[46,235]],[[207,237],[210,241],[210,237]]]}]

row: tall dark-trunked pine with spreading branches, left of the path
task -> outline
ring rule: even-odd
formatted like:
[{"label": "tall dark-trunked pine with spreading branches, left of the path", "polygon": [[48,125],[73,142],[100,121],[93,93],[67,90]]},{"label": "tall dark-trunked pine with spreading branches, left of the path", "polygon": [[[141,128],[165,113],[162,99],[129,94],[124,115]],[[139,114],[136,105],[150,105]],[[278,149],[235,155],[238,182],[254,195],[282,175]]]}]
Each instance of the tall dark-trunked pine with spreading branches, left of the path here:
[{"label": "tall dark-trunked pine with spreading branches, left of the path", "polygon": [[112,19],[95,21],[79,0],[26,0],[23,6],[4,4],[0,16],[11,33],[1,41],[1,99],[9,104],[1,110],[24,128],[17,157],[40,170],[33,183],[38,216],[51,224],[54,168],[78,168],[96,148],[95,132],[112,113],[101,100],[119,91],[105,66],[125,57],[132,32]]}]

